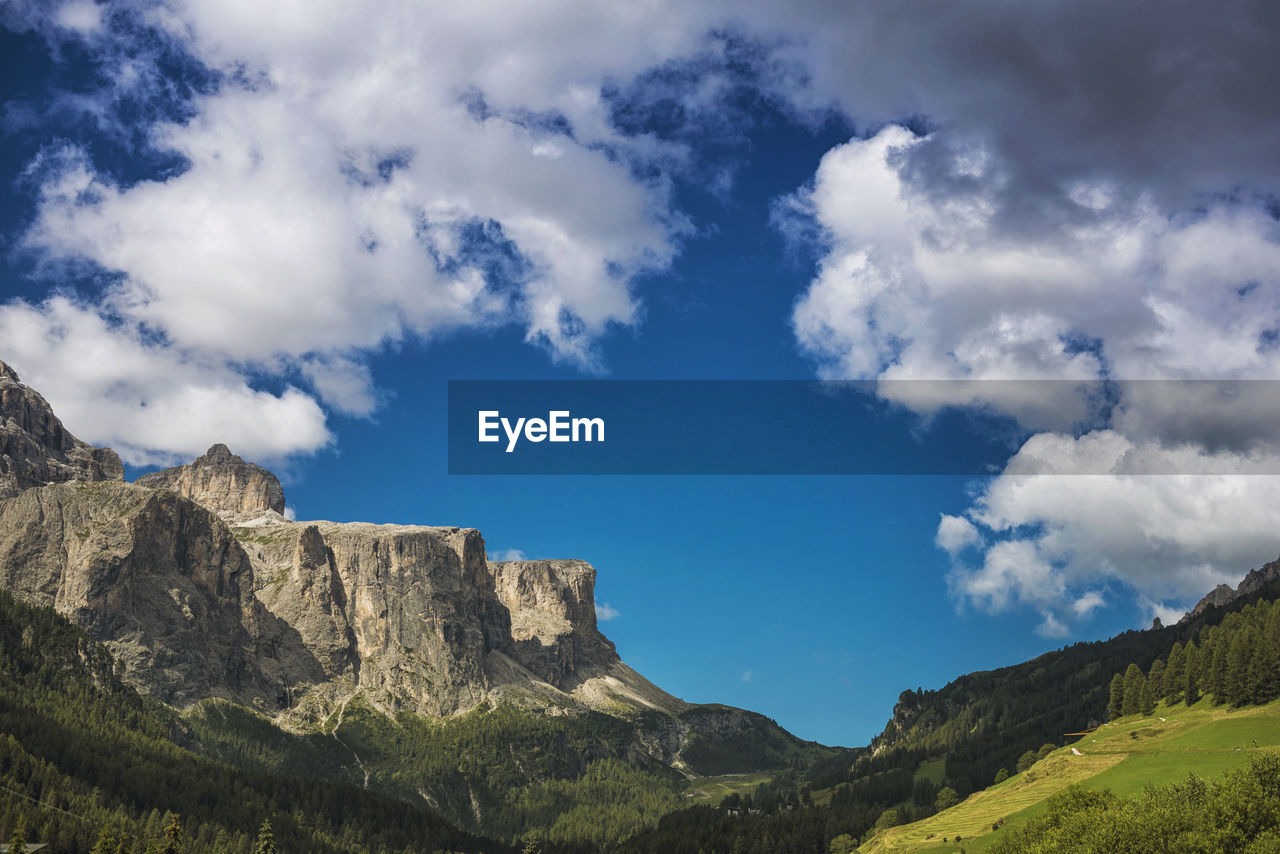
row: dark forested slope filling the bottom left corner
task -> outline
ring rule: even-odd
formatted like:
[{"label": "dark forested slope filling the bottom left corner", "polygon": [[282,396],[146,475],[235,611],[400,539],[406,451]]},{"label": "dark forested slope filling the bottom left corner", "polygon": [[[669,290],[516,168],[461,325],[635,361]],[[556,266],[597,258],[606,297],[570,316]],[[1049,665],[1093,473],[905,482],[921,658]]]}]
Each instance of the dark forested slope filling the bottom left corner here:
[{"label": "dark forested slope filling the bottom left corner", "polygon": [[[111,854],[280,850],[495,851],[425,809],[353,786],[232,768],[177,743],[178,717],[124,685],[110,654],[54,613],[0,592],[0,834]],[[180,818],[179,818],[180,817]],[[114,836],[114,835],[113,835]],[[100,849],[100,850],[106,850]]]}]

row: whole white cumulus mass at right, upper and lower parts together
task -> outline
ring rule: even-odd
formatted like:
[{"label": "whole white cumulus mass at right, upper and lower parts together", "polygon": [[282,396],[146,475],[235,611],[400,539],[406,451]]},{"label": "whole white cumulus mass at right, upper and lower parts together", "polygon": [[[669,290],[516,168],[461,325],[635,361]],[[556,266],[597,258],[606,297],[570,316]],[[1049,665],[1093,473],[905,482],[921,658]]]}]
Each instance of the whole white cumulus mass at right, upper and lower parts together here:
[{"label": "whole white cumulus mass at right, upper and lower parts together", "polygon": [[[929,140],[897,125],[851,140],[788,200],[823,239],[792,320],[826,378],[877,379],[922,414],[996,410],[1032,433],[940,522],[956,595],[1036,609],[1061,636],[1102,607],[1098,584],[1151,611],[1274,557],[1276,218],[1256,201],[1169,211],[1094,187],[1055,228],[1010,230],[1000,152],[954,152],[974,181],[929,192],[909,175]],[[979,543],[977,561],[957,556]]]}]

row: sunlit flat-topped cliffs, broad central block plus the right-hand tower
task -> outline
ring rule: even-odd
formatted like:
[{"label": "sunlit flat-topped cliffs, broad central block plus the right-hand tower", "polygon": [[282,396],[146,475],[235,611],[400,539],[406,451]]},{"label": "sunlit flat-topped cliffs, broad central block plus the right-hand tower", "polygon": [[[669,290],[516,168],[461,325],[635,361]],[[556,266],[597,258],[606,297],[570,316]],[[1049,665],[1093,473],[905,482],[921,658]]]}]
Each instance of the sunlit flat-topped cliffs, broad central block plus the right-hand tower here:
[{"label": "sunlit flat-topped cliffs, broad central block plus the right-hand tower", "polygon": [[686,708],[596,630],[595,568],[584,561],[490,563],[465,528],[260,520],[233,530],[257,598],[324,667],[316,702],[358,690],[388,712],[431,716],[490,698]]}]

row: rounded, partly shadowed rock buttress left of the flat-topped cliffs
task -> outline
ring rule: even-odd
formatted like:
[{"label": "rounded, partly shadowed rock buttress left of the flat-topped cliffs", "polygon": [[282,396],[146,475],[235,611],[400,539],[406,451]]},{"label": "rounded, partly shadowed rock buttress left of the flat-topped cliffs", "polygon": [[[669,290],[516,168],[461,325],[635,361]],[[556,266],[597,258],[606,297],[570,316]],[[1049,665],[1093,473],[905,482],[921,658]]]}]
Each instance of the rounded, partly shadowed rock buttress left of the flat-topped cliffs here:
[{"label": "rounded, partly shadowed rock buttress left of the flat-topped cliffs", "polygon": [[270,711],[323,679],[253,597],[227,526],[170,492],[59,484],[0,501],[0,583],[105,641],[123,676],[166,703],[224,697]]}]

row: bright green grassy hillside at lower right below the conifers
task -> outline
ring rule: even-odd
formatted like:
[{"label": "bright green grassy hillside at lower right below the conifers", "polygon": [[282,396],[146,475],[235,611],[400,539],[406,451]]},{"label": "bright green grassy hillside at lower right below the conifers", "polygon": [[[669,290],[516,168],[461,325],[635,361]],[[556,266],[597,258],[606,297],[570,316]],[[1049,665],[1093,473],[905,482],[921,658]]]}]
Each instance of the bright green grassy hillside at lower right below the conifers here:
[{"label": "bright green grassy hillside at lower right below the conifers", "polygon": [[[1071,784],[1134,795],[1147,785],[1181,782],[1189,773],[1220,777],[1244,767],[1257,752],[1280,753],[1280,702],[1243,709],[1215,708],[1208,700],[1192,708],[1161,705],[1152,717],[1106,723],[937,816],[882,831],[859,851],[987,851],[1001,834],[1043,812],[1046,800]],[[997,822],[1004,826],[993,831]]]}]

